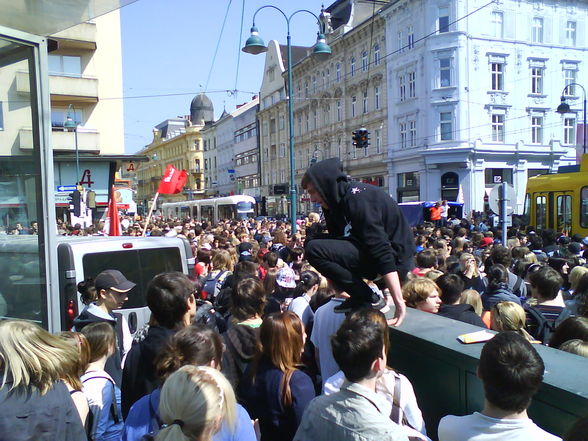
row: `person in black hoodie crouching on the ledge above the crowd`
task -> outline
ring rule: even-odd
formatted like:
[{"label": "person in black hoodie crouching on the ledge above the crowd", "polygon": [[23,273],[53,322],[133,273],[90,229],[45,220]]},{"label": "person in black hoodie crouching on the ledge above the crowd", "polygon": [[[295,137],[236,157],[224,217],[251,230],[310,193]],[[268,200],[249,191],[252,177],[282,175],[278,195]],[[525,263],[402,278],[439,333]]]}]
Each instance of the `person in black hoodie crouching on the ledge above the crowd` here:
[{"label": "person in black hoodie crouching on the ledge above the crowd", "polygon": [[363,279],[382,276],[396,311],[393,325],[406,314],[400,280],[413,267],[414,239],[398,204],[381,188],[353,181],[338,158],[312,165],[302,187],[321,204],[328,234],[307,237],[305,256],[312,266],[351,297],[337,312],[371,304],[384,306]]}]

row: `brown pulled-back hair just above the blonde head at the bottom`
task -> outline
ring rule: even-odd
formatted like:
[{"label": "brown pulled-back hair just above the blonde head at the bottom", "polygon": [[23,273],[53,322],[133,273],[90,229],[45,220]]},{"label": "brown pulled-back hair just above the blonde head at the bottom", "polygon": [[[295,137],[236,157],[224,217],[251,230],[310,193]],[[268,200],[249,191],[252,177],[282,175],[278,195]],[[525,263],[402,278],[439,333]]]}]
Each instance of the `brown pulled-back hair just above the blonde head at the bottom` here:
[{"label": "brown pulled-back hair just above the blonde head at the bottom", "polygon": [[162,381],[182,366],[207,366],[214,360],[220,366],[223,342],[217,332],[197,323],[176,332],[155,358],[157,375]]}]

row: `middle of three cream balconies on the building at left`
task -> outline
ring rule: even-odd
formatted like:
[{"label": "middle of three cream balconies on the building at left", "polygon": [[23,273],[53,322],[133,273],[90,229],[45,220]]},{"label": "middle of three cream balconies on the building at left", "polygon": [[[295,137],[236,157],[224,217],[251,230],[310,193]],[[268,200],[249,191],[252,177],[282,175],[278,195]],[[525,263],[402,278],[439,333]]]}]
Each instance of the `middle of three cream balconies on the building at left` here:
[{"label": "middle of three cream balconies on the building at left", "polygon": [[[16,73],[16,91],[30,93],[29,73]],[[52,102],[96,103],[98,102],[98,79],[93,77],[74,77],[49,75],[49,90]]]}]

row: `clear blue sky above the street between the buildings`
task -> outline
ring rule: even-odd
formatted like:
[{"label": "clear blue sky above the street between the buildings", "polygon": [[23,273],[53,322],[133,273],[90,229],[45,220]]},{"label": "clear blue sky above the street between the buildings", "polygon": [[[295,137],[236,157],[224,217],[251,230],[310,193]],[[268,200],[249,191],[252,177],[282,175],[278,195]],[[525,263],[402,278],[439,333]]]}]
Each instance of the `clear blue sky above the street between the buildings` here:
[{"label": "clear blue sky above the street between the buildings", "polygon": [[[325,6],[331,3],[326,2]],[[192,98],[200,92],[212,100],[215,118],[224,108],[231,112],[237,104],[250,101],[259,92],[265,56],[246,54],[241,47],[250,35],[253,14],[268,4],[289,16],[297,9],[319,15],[322,3],[138,0],[121,9],[127,154],[150,144],[153,128],[160,122],[188,115]],[[265,8],[257,14],[255,22],[266,44],[269,40],[286,44],[286,20],[279,11]],[[317,30],[316,20],[310,14],[296,14],[290,24],[292,45],[313,46]],[[235,89],[239,91],[236,94],[226,92]]]}]

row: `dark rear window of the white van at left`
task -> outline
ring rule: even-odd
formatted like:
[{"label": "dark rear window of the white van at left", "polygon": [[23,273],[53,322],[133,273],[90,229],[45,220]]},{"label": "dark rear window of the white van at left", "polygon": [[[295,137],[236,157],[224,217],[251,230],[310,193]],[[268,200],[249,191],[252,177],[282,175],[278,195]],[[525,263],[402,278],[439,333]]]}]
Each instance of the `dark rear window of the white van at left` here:
[{"label": "dark rear window of the white van at left", "polygon": [[124,308],[141,308],[147,303],[145,292],[149,281],[159,273],[182,272],[182,257],[177,247],[90,253],[83,257],[84,274],[96,277],[100,272],[116,268],[137,284],[129,291]]}]

